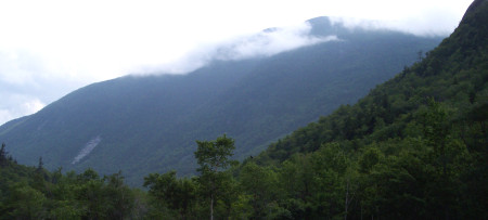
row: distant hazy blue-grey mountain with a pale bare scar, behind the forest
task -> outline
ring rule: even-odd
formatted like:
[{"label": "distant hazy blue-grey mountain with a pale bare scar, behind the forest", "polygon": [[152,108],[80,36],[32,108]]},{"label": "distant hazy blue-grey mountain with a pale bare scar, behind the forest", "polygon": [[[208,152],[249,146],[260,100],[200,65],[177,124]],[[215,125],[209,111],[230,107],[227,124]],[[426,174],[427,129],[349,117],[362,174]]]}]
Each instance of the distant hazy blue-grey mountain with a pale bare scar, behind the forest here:
[{"label": "distant hazy blue-grey mountain with a pale bare scar, behind the forest", "polygon": [[[334,36],[272,56],[216,60],[187,75],[127,76],[69,93],[37,114],[0,127],[22,164],[48,169],[123,170],[132,184],[149,172],[191,174],[195,140],[227,133],[236,158],[355,103],[421,59],[439,38],[347,29],[309,21],[310,37]],[[273,29],[266,30],[273,31]],[[223,50],[226,51],[226,50]]]}]

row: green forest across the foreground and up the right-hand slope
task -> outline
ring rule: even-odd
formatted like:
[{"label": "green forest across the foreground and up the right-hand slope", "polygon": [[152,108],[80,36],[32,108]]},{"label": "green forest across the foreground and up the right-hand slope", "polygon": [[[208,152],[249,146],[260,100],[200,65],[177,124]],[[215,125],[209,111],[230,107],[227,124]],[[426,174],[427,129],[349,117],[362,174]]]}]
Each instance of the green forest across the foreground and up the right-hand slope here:
[{"label": "green forest across the foreground and up the right-hand slope", "polygon": [[488,3],[439,47],[272,143],[196,141],[196,176],[99,176],[18,165],[0,151],[0,219],[486,219]]}]

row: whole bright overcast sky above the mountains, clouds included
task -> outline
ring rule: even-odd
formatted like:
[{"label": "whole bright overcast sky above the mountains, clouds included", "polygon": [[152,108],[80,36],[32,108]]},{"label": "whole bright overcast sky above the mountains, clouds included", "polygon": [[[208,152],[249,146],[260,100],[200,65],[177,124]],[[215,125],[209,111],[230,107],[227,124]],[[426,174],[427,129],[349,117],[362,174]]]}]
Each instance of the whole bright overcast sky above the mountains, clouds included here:
[{"label": "whole bright overcast sky above the mountains, clouds included", "polygon": [[[473,0],[0,1],[0,125],[84,86],[336,40],[304,21],[448,36]],[[364,20],[370,22],[364,22]],[[373,22],[371,22],[373,21]],[[281,27],[274,33],[260,33]],[[220,57],[221,48],[227,50]]]}]

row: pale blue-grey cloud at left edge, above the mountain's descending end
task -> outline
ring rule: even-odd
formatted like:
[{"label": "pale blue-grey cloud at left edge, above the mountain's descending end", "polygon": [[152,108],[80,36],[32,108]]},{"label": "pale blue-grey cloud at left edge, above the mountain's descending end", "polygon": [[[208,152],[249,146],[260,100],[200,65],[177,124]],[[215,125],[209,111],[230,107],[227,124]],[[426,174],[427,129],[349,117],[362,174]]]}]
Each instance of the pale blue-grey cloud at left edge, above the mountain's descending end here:
[{"label": "pale blue-grey cloud at left edge, above the mountain's descending end", "polygon": [[0,51],[0,125],[34,114],[82,86],[48,70],[39,56],[25,50]]}]

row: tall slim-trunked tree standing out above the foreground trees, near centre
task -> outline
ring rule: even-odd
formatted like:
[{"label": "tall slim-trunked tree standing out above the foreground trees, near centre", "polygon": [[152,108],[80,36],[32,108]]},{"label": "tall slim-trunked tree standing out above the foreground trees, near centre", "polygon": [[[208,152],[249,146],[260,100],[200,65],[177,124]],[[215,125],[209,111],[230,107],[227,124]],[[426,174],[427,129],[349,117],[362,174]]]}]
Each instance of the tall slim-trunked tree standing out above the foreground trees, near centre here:
[{"label": "tall slim-trunked tree standing out above the foreground trees, near centre", "polygon": [[232,150],[235,148],[234,140],[227,138],[226,134],[217,138],[215,141],[196,141],[198,145],[195,152],[195,158],[200,167],[196,169],[201,173],[198,181],[210,198],[210,219],[214,219],[214,203],[220,191],[220,183],[229,177],[222,171],[233,161]]}]

